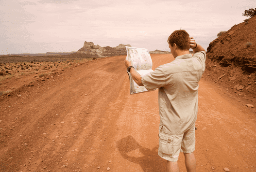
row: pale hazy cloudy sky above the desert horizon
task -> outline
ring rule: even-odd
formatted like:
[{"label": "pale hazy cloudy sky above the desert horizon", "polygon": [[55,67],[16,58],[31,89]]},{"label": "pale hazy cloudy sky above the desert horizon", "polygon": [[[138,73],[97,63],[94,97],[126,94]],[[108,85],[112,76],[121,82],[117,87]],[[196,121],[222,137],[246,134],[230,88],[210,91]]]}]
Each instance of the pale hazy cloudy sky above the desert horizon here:
[{"label": "pale hazy cloudy sky above the desert horizon", "polygon": [[0,54],[78,51],[86,42],[170,51],[185,29],[205,50],[256,0],[0,0]]}]

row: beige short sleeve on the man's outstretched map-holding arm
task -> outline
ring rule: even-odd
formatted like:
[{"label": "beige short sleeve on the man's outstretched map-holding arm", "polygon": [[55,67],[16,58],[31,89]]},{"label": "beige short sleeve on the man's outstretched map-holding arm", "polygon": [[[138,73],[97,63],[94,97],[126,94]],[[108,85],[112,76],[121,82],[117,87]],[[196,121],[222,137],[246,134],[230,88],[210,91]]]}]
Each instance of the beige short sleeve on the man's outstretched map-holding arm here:
[{"label": "beige short sleeve on the man's outstretched map-holding arm", "polygon": [[141,76],[141,82],[147,90],[160,88],[165,85],[166,76],[161,66],[156,68],[154,72],[150,72]]}]

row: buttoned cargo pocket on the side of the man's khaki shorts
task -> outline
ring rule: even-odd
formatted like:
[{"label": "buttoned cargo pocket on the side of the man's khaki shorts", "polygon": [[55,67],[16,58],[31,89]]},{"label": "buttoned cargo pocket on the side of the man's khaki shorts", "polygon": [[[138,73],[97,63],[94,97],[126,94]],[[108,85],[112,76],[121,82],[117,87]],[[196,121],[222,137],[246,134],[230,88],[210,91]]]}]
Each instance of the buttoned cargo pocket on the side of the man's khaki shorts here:
[{"label": "buttoned cargo pocket on the side of the man's khaki shorts", "polygon": [[173,154],[173,137],[164,133],[159,133],[159,151],[162,154],[172,156]]}]

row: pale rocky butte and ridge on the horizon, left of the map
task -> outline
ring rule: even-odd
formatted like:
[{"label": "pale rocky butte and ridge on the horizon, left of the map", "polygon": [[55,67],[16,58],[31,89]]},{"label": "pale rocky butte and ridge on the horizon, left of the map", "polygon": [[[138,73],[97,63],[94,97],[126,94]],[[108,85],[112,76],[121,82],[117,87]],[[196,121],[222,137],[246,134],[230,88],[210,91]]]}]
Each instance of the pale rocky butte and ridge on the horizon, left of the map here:
[{"label": "pale rocky butte and ridge on the horizon, left of the map", "polygon": [[94,43],[87,43],[85,41],[84,46],[80,48],[77,53],[85,54],[87,57],[112,57],[126,55],[125,46],[131,47],[130,44],[119,44],[117,47],[94,45]]}]

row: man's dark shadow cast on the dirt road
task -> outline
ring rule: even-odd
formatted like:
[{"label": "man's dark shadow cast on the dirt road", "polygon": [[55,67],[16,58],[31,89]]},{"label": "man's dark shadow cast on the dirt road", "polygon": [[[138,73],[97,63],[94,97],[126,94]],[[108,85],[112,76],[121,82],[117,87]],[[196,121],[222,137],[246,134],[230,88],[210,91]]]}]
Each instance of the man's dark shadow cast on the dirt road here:
[{"label": "man's dark shadow cast on the dirt road", "polygon": [[[166,160],[158,156],[158,146],[150,150],[139,145],[132,136],[127,136],[117,142],[117,148],[123,158],[139,164],[144,172],[166,172]],[[143,154],[142,157],[137,158],[127,155],[127,153],[136,149]]]}]

